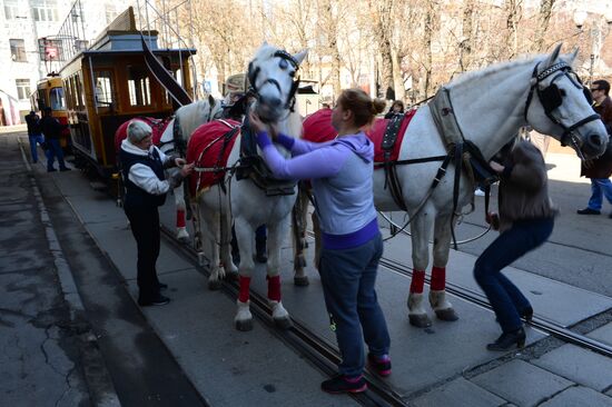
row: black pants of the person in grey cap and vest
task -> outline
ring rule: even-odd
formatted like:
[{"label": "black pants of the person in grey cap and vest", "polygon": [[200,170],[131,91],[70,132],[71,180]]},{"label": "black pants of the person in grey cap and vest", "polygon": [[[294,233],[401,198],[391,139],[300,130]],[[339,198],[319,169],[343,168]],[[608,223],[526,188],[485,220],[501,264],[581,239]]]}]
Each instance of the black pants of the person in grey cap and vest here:
[{"label": "black pants of the person in grey cap and vest", "polygon": [[141,301],[159,296],[155,264],[159,256],[159,212],[157,207],[125,208],[138,246],[138,289]]}]

